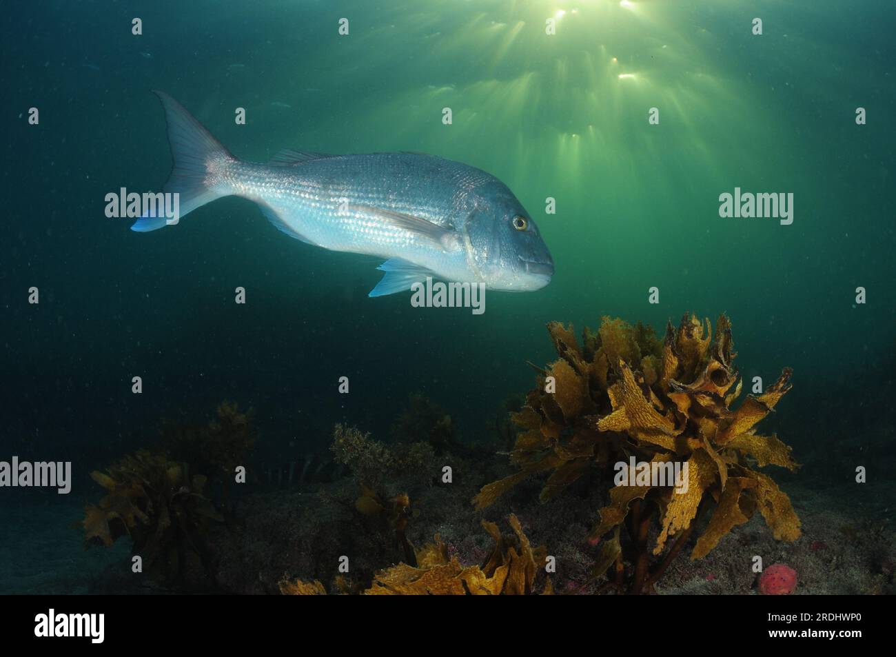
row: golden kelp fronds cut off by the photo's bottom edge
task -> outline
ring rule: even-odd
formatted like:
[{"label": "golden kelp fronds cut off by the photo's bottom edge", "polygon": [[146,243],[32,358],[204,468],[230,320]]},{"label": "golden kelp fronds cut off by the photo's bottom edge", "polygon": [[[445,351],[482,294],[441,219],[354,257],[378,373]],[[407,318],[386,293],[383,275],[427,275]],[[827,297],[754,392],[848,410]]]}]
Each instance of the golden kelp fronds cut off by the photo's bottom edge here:
[{"label": "golden kelp fronds cut off by the photo's bottom edge", "polygon": [[[448,548],[435,536],[416,555],[417,566],[399,564],[377,572],[365,595],[529,595],[534,593],[538,564],[544,564],[547,549],[532,548],[522,532],[520,521],[511,514],[513,535],[502,535],[495,523],[483,522],[495,539],[495,548],[481,566],[462,566],[457,557],[448,556]],[[337,583],[344,590],[344,582]],[[283,581],[284,595],[320,595],[326,592],[319,581]],[[550,579],[542,594],[553,593]]]}]

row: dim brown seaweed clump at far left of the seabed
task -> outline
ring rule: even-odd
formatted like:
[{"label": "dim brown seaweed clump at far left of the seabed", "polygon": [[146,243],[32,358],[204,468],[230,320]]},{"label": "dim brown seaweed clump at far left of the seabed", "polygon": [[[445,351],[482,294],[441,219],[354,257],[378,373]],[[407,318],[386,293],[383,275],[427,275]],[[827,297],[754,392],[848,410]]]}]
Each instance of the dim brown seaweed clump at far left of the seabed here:
[{"label": "dim brown seaweed clump at far left of the seabed", "polygon": [[133,540],[132,553],[143,571],[159,584],[181,587],[208,584],[210,550],[205,541],[210,523],[221,520],[202,494],[206,477],[191,476],[183,462],[141,450],[125,456],[107,472],[90,477],[106,489],[99,505],[85,508],[87,545],[111,546],[122,536]]}]

